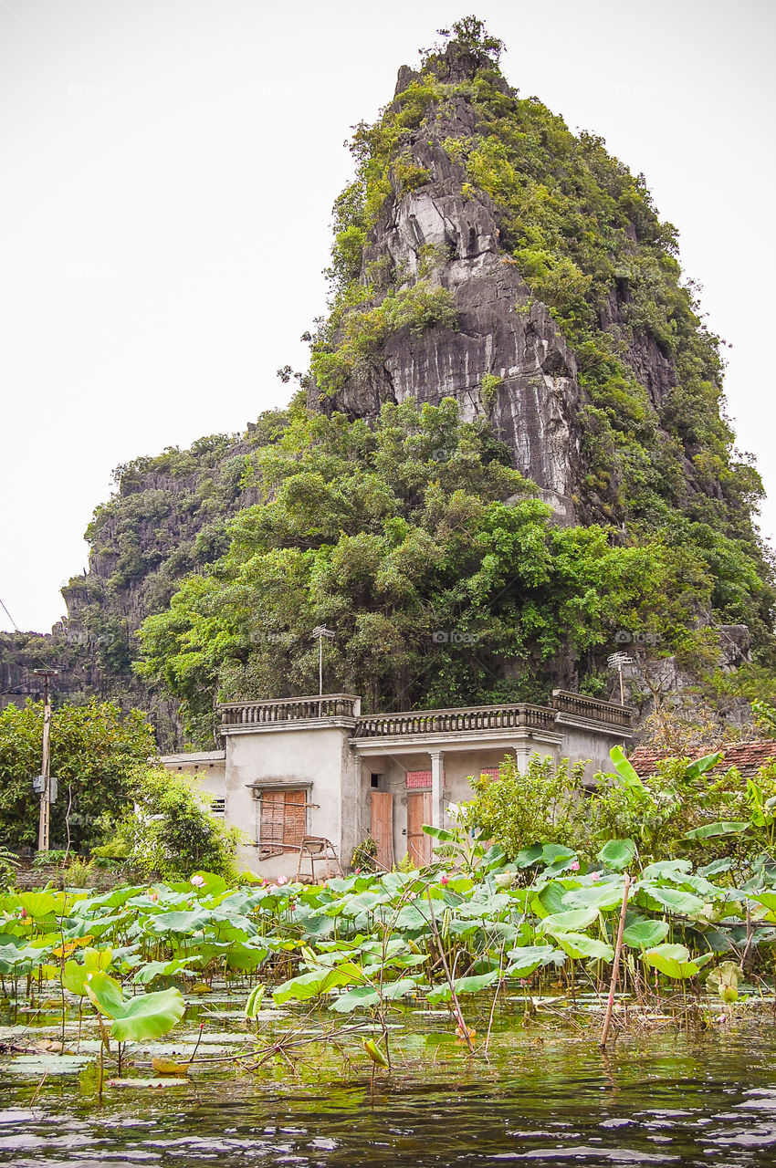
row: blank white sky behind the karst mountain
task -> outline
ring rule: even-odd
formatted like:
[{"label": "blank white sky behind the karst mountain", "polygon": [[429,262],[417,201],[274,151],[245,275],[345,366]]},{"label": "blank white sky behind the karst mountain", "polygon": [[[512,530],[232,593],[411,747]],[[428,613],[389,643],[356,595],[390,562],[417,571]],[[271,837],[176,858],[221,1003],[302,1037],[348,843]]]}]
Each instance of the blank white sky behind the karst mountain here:
[{"label": "blank white sky behind the karst mountain", "polygon": [[63,614],[117,464],[287,399],[275,370],[305,364],[324,310],[348,127],[474,7],[524,96],[646,174],[776,499],[772,0],[0,0],[0,598],[20,628]]}]

